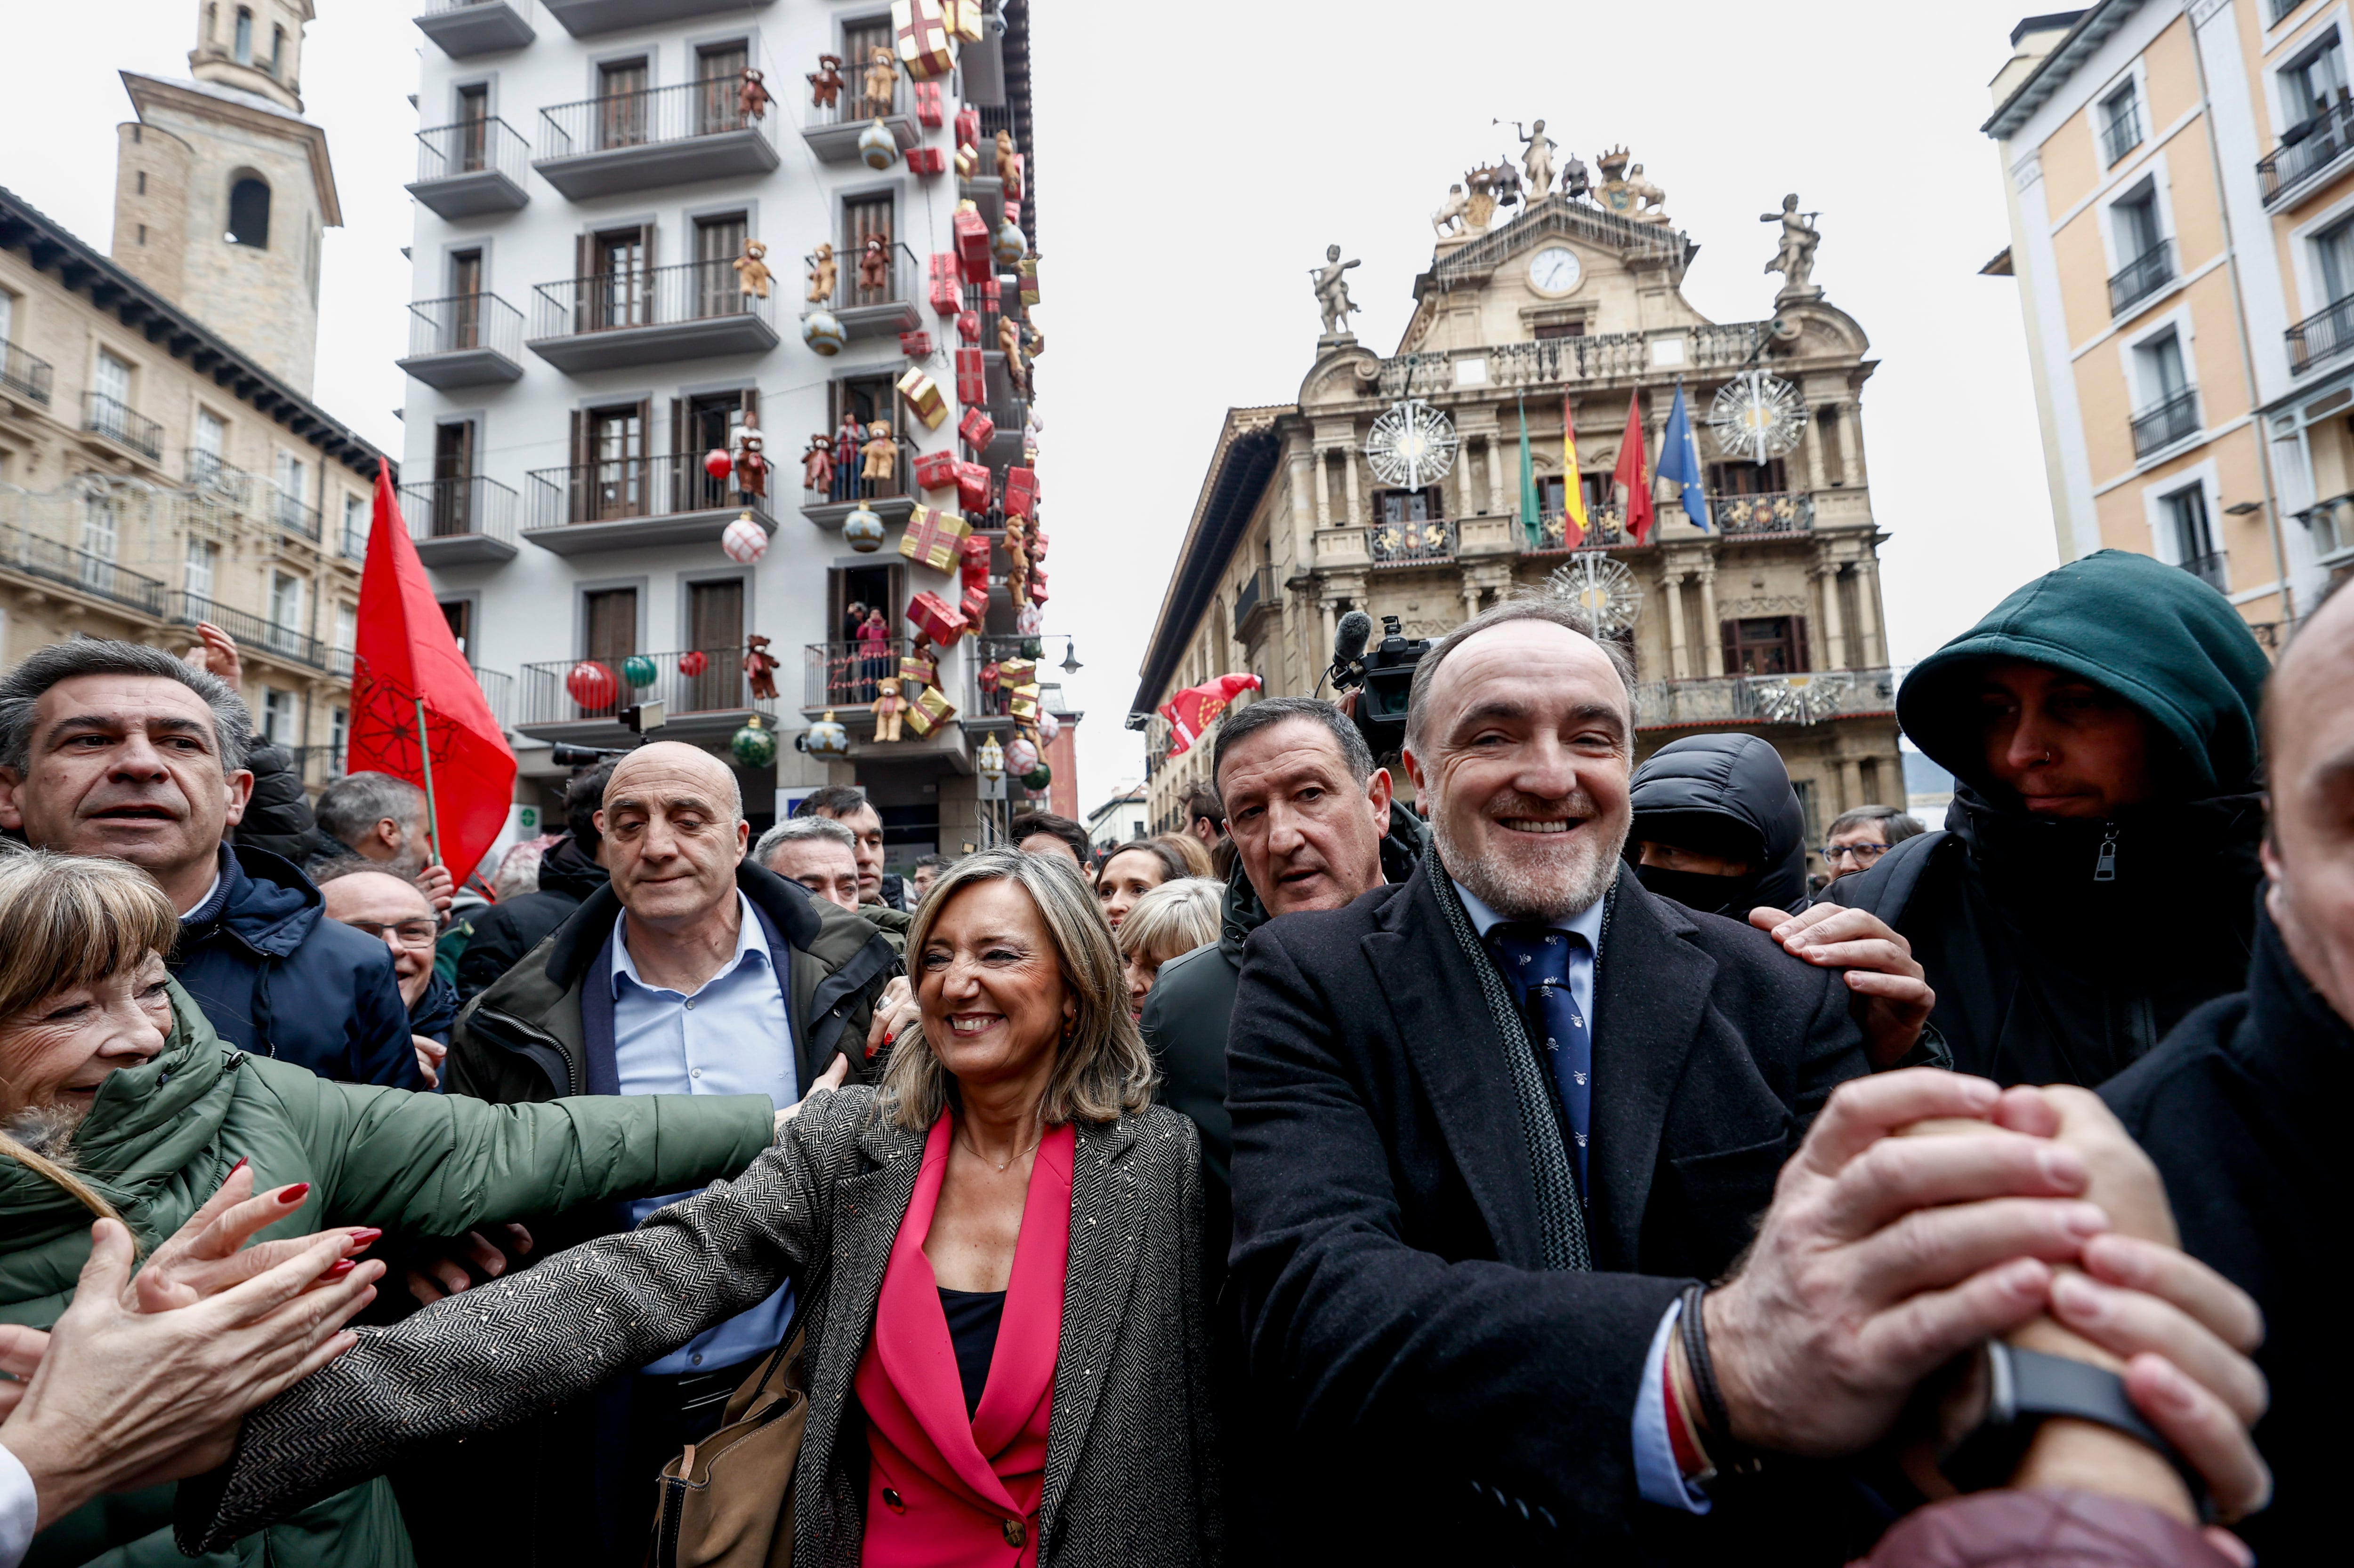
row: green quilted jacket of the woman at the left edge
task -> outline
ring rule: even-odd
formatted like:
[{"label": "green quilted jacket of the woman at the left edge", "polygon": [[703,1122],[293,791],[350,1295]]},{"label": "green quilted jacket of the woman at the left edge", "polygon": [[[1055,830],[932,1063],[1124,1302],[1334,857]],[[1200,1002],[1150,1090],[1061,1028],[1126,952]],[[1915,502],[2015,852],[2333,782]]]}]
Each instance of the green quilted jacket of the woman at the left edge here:
[{"label": "green quilted jacket of the woman at the left edge", "polygon": [[[379,1248],[454,1237],[485,1220],[678,1192],[744,1171],[772,1140],[765,1095],[593,1095],[490,1105],[466,1095],[334,1084],[224,1046],[172,985],[165,1051],[99,1088],[73,1140],[75,1173],[155,1246],[240,1157],[254,1187],[311,1182],[264,1239],[377,1225]],[[0,1159],[0,1321],[47,1328],[89,1258],[89,1213]],[[379,1286],[381,1288],[381,1286]],[[391,1281],[398,1288],[398,1281]],[[172,1488],[101,1497],[42,1530],[26,1568],[181,1568]],[[393,1488],[379,1476],[318,1502],[205,1568],[412,1568]]]}]

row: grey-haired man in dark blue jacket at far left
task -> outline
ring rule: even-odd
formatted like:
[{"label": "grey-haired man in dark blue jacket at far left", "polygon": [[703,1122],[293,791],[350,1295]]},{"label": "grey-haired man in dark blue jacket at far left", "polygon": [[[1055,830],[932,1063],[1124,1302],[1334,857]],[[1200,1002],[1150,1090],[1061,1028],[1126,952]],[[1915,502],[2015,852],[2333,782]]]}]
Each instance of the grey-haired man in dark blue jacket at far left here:
[{"label": "grey-haired man in dark blue jacket at far left", "polygon": [[325,917],[245,816],[252,719],[226,682],[132,642],[40,649],[0,679],[0,830],[129,860],[181,914],[172,969],[221,1039],[320,1077],[417,1088],[384,943]]}]

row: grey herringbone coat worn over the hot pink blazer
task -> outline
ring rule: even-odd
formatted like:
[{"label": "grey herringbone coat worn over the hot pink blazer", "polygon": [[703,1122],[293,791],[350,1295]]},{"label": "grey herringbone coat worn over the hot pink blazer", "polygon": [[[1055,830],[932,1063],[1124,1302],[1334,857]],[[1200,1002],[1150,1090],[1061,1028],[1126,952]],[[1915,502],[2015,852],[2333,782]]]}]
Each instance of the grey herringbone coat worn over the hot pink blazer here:
[{"label": "grey herringbone coat worn over the hot pink blazer", "polygon": [[[826,1274],[803,1316],[810,1427],[793,1561],[857,1568],[866,1453],[852,1375],[923,1164],[923,1133],[871,1107],[871,1088],[810,1095],[734,1182],[393,1328],[363,1328],[355,1349],[245,1420],[228,1467],[181,1483],[181,1544],[226,1544],[412,1443],[525,1420],[678,1349],[784,1279]],[[1224,1559],[1198,1248],[1193,1124],[1163,1107],[1078,1124],[1040,1568]]]}]

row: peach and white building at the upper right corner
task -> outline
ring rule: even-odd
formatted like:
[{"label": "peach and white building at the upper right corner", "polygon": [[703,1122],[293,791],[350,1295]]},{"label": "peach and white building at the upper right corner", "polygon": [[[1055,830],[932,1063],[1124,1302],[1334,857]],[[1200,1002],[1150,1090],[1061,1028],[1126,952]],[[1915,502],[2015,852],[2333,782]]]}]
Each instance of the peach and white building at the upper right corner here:
[{"label": "peach and white building at the upper right corner", "polygon": [[2104,0],[1994,78],[2060,557],[2137,550],[2272,646],[2354,564],[2347,9]]}]

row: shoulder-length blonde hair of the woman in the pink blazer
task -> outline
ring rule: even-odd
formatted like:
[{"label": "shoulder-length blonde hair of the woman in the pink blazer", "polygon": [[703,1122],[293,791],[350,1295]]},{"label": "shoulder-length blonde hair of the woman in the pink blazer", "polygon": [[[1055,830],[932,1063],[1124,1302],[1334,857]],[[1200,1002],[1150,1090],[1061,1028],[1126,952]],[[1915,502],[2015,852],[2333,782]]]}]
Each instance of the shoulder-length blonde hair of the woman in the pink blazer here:
[{"label": "shoulder-length blonde hair of the woman in the pink blazer", "polygon": [[[1055,1077],[1045,1086],[1038,1114],[1050,1126],[1118,1121],[1121,1114],[1151,1105],[1153,1056],[1144,1048],[1144,1034],[1137,1032],[1135,1018],[1128,1016],[1128,976],[1121,969],[1121,952],[1111,943],[1111,926],[1104,924],[1095,891],[1062,856],[984,849],[944,870],[932,891],[916,905],[916,922],[906,931],[909,973],[916,990],[923,992],[923,950],[932,940],[932,926],[942,910],[956,903],[960,891],[982,882],[1015,882],[1031,896],[1048,938],[1055,943],[1062,983],[1078,999],[1078,1016],[1059,1046]],[[939,1114],[953,1103],[956,1079],[925,1044],[923,1025],[899,1034],[890,1065],[883,1070],[876,1114],[920,1133],[939,1121]]]}]

